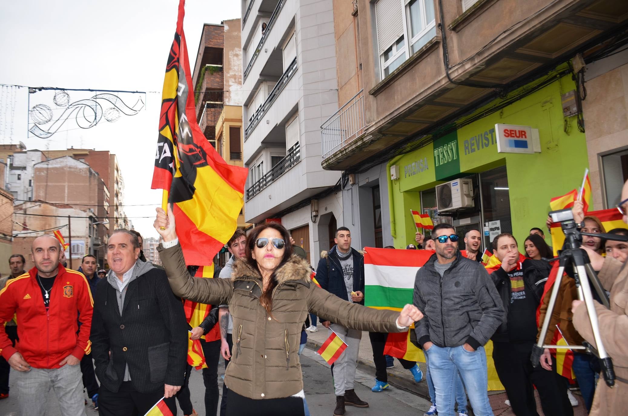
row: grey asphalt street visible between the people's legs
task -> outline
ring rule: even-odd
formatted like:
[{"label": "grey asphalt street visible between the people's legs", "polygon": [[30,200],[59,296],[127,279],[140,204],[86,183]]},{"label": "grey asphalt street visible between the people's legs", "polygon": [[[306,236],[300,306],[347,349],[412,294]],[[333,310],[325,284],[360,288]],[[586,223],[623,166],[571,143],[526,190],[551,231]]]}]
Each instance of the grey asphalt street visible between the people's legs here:
[{"label": "grey asphalt street visible between the people's legs", "polygon": [[[312,416],[331,416],[335,407],[335,395],[333,393],[332,375],[329,366],[317,353],[306,348],[301,355],[301,367],[303,368],[303,383],[305,397]],[[224,364],[220,363],[220,373],[224,369]],[[15,386],[15,376],[11,370],[11,392],[9,398],[0,400],[0,416],[27,416],[19,415],[18,397]],[[398,390],[391,387],[382,393],[373,393],[371,386],[373,376],[360,370],[356,373],[355,391],[362,400],[369,402],[369,408],[347,407],[347,416],[352,415],[387,415],[394,412],[396,416],[416,416],[422,415],[430,406],[430,403],[412,393]],[[425,383],[425,381],[422,381]],[[219,375],[219,387],[222,393],[222,378]],[[205,405],[203,395],[203,376],[200,371],[192,371],[190,376],[190,391],[192,393],[192,403],[199,415],[205,415]],[[85,394],[87,399],[87,394]],[[61,416],[57,398],[54,391],[50,391],[47,397],[32,398],[32,400],[44,400],[48,403],[46,416]],[[97,415],[98,412],[92,407],[91,400],[85,406],[87,415]],[[178,415],[183,415],[181,410]],[[28,415],[32,416],[32,415]],[[39,415],[38,415],[39,416]],[[41,415],[44,416],[44,415]],[[123,416],[123,415],[121,415]]]}]

